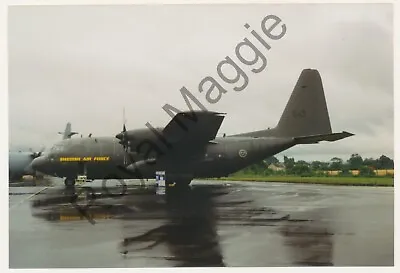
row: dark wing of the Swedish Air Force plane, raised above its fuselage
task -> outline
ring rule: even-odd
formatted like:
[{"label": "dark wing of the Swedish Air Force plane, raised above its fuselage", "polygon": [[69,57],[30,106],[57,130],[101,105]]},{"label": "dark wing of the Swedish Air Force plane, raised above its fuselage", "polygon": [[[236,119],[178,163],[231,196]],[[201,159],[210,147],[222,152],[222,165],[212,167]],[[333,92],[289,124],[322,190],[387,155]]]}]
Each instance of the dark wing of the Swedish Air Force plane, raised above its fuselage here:
[{"label": "dark wing of the Swedish Air Force plane, raised above its fuselage", "polygon": [[193,150],[215,139],[224,118],[224,114],[217,112],[181,112],[175,115],[162,133],[175,151]]}]

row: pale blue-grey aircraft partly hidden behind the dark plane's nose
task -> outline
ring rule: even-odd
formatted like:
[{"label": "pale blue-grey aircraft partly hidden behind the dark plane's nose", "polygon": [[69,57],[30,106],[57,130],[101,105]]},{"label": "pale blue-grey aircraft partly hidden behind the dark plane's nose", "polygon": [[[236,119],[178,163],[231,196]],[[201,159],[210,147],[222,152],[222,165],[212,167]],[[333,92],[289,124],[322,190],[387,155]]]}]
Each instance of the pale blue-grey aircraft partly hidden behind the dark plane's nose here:
[{"label": "pale blue-grey aircraft partly hidden behind the dark plane's nose", "polygon": [[[71,123],[68,122],[64,132],[59,132],[63,135],[62,139],[69,139],[77,132],[71,131]],[[8,153],[8,173],[9,181],[19,181],[24,175],[34,175],[35,171],[30,168],[31,162],[41,156],[43,150],[39,152],[33,151],[10,151]]]}]

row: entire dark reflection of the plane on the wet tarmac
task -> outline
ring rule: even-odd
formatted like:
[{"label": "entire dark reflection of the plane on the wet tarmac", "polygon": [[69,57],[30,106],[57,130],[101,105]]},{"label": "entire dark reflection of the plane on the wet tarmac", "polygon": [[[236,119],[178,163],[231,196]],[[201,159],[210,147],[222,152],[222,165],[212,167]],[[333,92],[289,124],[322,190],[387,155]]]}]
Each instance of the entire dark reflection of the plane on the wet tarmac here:
[{"label": "entire dark reflection of the plane on the wet tarmac", "polygon": [[[293,259],[289,265],[332,264],[330,232],[314,231],[315,223],[309,219],[295,220],[287,213],[257,206],[243,195],[244,187],[193,185],[167,195],[155,194],[154,186],[112,188],[108,195],[100,194],[100,187],[48,190],[33,200],[34,216],[48,221],[89,220],[92,224],[98,219],[118,219],[124,234],[118,243],[118,251],[125,259],[138,256],[165,259],[175,266],[185,267],[229,266],[224,263],[218,227],[250,225],[265,226],[263,234],[271,232],[268,227],[278,227],[278,234],[284,237]],[[125,193],[121,194],[122,191]],[[81,193],[95,198],[81,198],[78,196]],[[76,203],[68,206],[70,202]],[[312,238],[307,238],[309,236]],[[161,245],[163,247],[159,247]],[[328,250],[321,250],[321,245]],[[165,253],[165,247],[168,253]],[[267,256],[262,253],[251,255],[260,256],[262,261]]]}]

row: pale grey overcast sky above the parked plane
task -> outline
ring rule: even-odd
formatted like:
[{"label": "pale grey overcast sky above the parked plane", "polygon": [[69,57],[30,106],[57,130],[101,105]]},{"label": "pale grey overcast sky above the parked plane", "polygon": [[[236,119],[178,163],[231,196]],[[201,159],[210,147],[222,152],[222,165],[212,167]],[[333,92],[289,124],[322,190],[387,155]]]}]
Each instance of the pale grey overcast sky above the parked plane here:
[{"label": "pale grey overcast sky above the parked plane", "polygon": [[[261,30],[270,14],[286,25],[279,40]],[[273,127],[301,70],[316,68],[333,130],[356,135],[278,158],[393,157],[389,4],[18,6],[9,8],[8,20],[10,149],[51,145],[68,121],[84,135],[115,135],[123,107],[128,129],[164,126],[164,104],[187,109],[183,86],[207,109],[227,113],[221,135]],[[244,38],[267,59],[260,73],[235,56]],[[248,76],[241,92],[216,72],[226,56]],[[228,90],[215,104],[198,91],[206,76]]]}]

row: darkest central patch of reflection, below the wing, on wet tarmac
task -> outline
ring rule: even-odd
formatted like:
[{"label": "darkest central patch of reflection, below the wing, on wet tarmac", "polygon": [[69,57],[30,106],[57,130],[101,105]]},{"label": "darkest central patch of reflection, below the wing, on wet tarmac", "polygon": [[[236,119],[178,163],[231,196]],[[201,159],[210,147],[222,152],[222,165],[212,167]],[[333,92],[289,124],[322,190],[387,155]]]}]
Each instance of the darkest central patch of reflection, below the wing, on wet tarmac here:
[{"label": "darkest central patch of reflection, below the wing, on wet tarmac", "polygon": [[[176,261],[177,266],[225,266],[217,235],[218,216],[213,204],[213,195],[218,193],[214,191],[218,190],[199,187],[184,195],[168,194],[165,203],[159,202],[151,209],[156,214],[165,213],[165,223],[142,235],[126,237],[121,252],[137,253],[165,244],[170,252],[167,259]],[[140,209],[149,205],[145,199],[131,203]],[[130,231],[135,231],[135,226],[126,225],[125,231],[129,235]],[[149,244],[135,247],[143,243]]]}]

